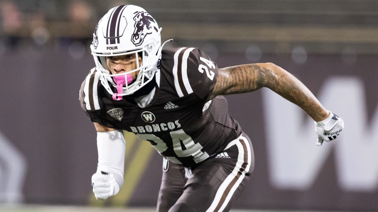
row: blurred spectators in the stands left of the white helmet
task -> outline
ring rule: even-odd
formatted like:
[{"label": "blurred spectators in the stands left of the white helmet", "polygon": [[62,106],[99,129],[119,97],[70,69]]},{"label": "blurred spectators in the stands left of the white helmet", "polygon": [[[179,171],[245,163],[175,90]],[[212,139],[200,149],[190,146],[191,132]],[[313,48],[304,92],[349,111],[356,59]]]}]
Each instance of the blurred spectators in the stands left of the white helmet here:
[{"label": "blurred spectators in the stands left of the white helmet", "polygon": [[125,1],[0,0],[0,49],[24,43],[36,48],[87,45],[108,9]]}]

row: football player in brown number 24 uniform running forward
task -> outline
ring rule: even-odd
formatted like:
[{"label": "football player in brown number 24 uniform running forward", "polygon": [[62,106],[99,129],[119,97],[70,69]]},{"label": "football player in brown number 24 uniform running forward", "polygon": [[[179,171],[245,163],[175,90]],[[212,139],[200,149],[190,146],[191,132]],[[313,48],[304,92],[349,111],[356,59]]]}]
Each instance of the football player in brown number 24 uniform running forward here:
[{"label": "football player in brown number 24 uniform running forward", "polygon": [[318,145],[344,128],[279,66],[218,68],[197,48],[163,50],[160,32],[155,19],[134,5],[110,9],[96,26],[96,67],[80,89],[81,107],[97,131],[96,198],[116,195],[123,184],[122,132],[129,131],[163,156],[158,212],[229,211],[253,171],[254,153],[223,95],[270,88],[313,118]]}]

